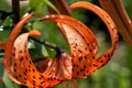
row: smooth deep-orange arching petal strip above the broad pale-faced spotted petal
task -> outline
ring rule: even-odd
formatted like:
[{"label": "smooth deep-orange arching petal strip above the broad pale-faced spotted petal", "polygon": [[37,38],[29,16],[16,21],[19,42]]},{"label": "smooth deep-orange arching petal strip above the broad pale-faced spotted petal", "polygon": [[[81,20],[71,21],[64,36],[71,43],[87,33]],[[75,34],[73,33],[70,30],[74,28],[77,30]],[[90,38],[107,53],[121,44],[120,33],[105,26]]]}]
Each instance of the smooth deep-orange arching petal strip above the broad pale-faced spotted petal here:
[{"label": "smooth deep-orange arching petal strip above the broad pale-faced spotted petal", "polygon": [[[67,15],[63,15],[63,14],[61,14],[61,15],[52,14],[52,15],[46,15],[46,16],[40,19],[40,21],[43,21],[43,20],[53,20],[53,21],[55,21],[55,22],[57,22],[59,24],[63,23],[63,24],[68,24],[67,26],[76,28],[76,31],[79,32],[80,35],[86,41],[90,42],[89,44],[92,47],[91,51],[94,51],[94,53],[97,54],[97,52],[98,52],[98,43],[97,43],[96,36],[94,35],[94,33],[90,31],[90,29],[88,26],[86,26],[85,24],[82,24],[78,20],[76,20],[74,18],[70,18],[70,16],[67,16]],[[59,24],[58,24],[58,26],[59,26]],[[66,25],[64,25],[64,26],[66,26]],[[61,29],[61,31],[65,35],[64,30]]]}]

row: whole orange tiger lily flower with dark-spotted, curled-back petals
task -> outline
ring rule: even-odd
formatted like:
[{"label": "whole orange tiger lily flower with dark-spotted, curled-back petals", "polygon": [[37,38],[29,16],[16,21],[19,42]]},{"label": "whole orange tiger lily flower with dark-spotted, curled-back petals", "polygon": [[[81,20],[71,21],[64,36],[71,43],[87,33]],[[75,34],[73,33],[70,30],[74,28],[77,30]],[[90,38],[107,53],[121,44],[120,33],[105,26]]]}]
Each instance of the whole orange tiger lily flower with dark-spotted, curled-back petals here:
[{"label": "whole orange tiger lily flower with dark-spotted, curled-back petals", "polygon": [[[28,51],[28,37],[40,35],[40,33],[31,31],[18,36],[23,24],[33,16],[31,13],[14,26],[6,46],[4,66],[13,81],[31,88],[47,88],[69,80],[73,87],[77,87],[74,79],[86,78],[110,61],[118,44],[118,32],[111,18],[102,9],[89,2],[76,2],[70,8],[84,8],[97,14],[108,28],[112,42],[111,47],[97,58],[98,43],[88,26],[68,15],[43,16],[40,21],[52,20],[57,23],[69,44],[70,55],[67,53],[56,55],[48,62],[47,68],[40,73],[32,63]],[[13,36],[13,34],[15,35]],[[12,61],[13,72],[11,72],[10,61]]]}]

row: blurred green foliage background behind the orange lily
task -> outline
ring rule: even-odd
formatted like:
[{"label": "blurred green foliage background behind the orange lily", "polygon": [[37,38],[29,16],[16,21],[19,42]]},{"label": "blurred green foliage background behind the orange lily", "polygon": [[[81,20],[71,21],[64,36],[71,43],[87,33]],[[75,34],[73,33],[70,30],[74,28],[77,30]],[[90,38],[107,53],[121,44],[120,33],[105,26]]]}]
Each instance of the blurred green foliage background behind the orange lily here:
[{"label": "blurred green foliage background behind the orange lily", "polygon": [[[0,10],[10,12],[10,1],[11,0],[0,0]],[[75,1],[81,0],[66,1],[68,2],[68,6],[70,6]],[[99,2],[97,0],[85,1],[89,1],[99,6]],[[127,12],[132,19],[132,0],[122,1]],[[28,11],[29,6],[26,3],[22,3],[20,11],[21,16]],[[36,8],[34,19],[32,19],[25,28],[28,30],[32,30],[32,28],[38,30],[42,33],[38,38],[43,38],[50,43],[56,44],[65,52],[69,53],[69,47],[56,25],[53,22],[38,22],[36,20],[38,16],[46,14],[48,14],[46,4],[42,6],[38,9]],[[100,47],[98,56],[110,47],[110,37],[108,31],[105,24],[95,14],[79,9],[72,11],[72,15],[87,24],[96,34]],[[10,18],[0,20],[0,41],[8,40],[12,28],[13,23]],[[33,59],[47,55],[53,57],[55,55],[55,52],[53,50],[34,43],[33,41],[30,41],[30,53]],[[0,88],[21,88],[16,84],[12,82],[3,70],[3,50],[0,50],[0,77],[3,78],[3,81],[0,82]],[[77,81],[80,88],[132,88],[132,47],[129,46],[120,36],[120,42],[118,48],[114,52],[114,55],[112,56],[112,59],[105,67],[98,69],[86,79],[78,79]],[[57,86],[55,88],[61,88],[61,86]]]}]

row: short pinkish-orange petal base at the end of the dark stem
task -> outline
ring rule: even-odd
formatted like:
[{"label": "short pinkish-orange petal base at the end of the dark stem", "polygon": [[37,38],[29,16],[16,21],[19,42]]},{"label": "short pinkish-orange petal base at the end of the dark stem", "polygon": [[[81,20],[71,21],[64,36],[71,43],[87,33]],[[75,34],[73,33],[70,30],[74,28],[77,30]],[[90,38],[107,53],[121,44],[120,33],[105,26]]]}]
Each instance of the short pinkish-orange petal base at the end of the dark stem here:
[{"label": "short pinkish-orange petal base at the end of the dark stem", "polygon": [[53,62],[47,67],[47,69],[43,73],[44,76],[52,75],[59,80],[69,80],[73,75],[73,63],[72,57],[62,53],[53,58]]}]

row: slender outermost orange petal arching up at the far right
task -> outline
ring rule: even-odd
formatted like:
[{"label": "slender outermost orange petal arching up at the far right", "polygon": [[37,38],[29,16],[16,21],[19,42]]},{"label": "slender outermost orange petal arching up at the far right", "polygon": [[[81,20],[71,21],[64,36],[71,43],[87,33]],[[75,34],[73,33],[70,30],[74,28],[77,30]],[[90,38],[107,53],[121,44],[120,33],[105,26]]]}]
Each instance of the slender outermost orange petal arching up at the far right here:
[{"label": "slender outermost orange petal arching up at the far right", "polygon": [[96,70],[96,69],[100,68],[101,66],[103,66],[105,64],[107,64],[108,61],[113,55],[113,52],[114,52],[117,44],[118,44],[117,28],[116,28],[112,19],[109,16],[109,14],[105,10],[102,10],[101,8],[99,8],[92,3],[81,1],[81,2],[73,3],[70,6],[70,8],[72,9],[84,8],[84,9],[87,9],[87,10],[94,12],[103,21],[103,23],[107,25],[108,31],[110,33],[112,45],[105,54],[102,54],[98,59],[96,59],[94,62],[94,64],[92,64],[94,68],[91,68],[91,73],[92,73],[94,70]]}]

